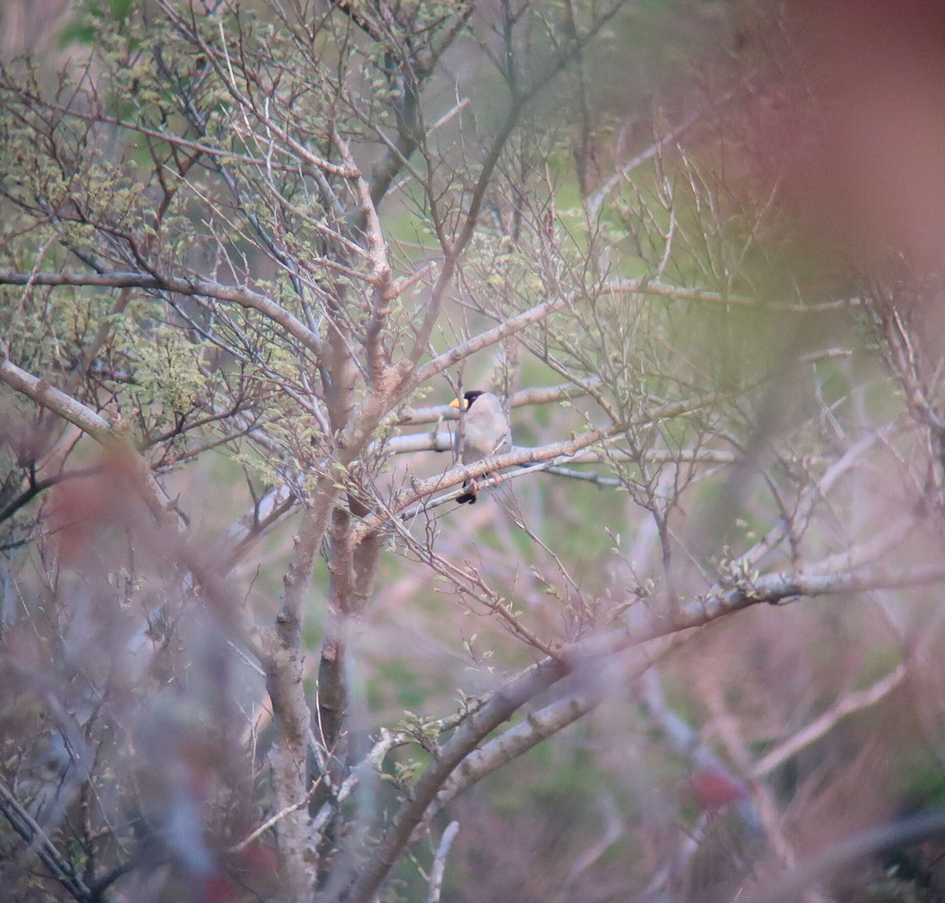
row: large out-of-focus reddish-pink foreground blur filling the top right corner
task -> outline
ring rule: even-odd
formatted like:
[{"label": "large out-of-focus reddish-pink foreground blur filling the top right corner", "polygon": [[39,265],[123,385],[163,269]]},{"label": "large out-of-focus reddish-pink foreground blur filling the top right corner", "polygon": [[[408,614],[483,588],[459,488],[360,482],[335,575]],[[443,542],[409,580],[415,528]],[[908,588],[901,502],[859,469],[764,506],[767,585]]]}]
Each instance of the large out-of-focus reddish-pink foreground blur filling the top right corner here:
[{"label": "large out-of-focus reddish-pink foreground blur filling the top right corner", "polygon": [[788,195],[854,248],[936,266],[945,251],[945,4],[812,0],[794,21],[794,87],[805,105],[814,96],[817,112],[813,141],[795,136]]}]

